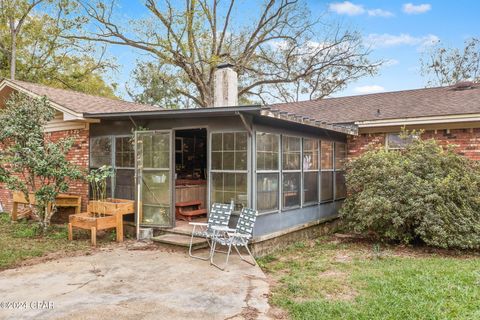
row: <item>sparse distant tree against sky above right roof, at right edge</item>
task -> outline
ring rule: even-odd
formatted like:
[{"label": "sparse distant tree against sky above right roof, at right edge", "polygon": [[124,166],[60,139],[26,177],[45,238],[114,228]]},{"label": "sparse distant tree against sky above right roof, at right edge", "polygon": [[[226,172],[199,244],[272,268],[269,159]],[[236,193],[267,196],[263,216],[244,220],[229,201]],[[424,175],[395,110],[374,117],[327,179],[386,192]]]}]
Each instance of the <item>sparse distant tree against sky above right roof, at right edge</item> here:
[{"label": "sparse distant tree against sky above right roof, at right edge", "polygon": [[449,86],[459,81],[480,81],[480,39],[465,41],[463,49],[438,42],[420,60],[427,86]]}]

